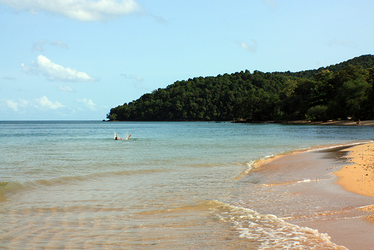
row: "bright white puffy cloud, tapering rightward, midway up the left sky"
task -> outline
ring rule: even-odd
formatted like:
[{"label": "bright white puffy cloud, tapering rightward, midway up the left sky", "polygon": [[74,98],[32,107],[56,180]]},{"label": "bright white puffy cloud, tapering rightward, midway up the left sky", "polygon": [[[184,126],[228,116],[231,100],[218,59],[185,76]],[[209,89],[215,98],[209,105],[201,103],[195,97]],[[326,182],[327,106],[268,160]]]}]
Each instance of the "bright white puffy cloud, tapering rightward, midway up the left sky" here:
[{"label": "bright white puffy cloud, tapering rightward, midway up the left sky", "polygon": [[50,81],[65,82],[93,82],[87,73],[77,71],[76,69],[65,68],[64,66],[53,63],[44,55],[39,55],[36,61],[32,61],[30,66],[21,64],[26,73],[41,73]]}]

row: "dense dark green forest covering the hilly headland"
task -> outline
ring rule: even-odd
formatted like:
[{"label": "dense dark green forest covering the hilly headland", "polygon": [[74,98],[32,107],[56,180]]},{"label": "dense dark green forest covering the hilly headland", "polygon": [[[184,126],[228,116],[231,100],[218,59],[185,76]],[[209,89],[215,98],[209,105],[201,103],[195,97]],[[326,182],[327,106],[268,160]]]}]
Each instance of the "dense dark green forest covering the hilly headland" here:
[{"label": "dense dark green forest covering the hilly headland", "polygon": [[177,81],[110,110],[110,121],[374,119],[374,55],[300,72]]}]

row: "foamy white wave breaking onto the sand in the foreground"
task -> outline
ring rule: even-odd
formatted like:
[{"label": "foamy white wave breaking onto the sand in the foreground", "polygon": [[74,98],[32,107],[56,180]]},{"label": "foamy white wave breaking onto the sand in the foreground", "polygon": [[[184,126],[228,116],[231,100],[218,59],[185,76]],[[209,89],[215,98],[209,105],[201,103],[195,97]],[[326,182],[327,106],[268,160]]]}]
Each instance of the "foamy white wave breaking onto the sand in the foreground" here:
[{"label": "foamy white wave breaking onto the sand in the foreground", "polygon": [[347,249],[330,241],[318,230],[285,222],[274,215],[219,201],[207,201],[210,211],[223,223],[229,223],[239,233],[257,243],[257,249]]}]

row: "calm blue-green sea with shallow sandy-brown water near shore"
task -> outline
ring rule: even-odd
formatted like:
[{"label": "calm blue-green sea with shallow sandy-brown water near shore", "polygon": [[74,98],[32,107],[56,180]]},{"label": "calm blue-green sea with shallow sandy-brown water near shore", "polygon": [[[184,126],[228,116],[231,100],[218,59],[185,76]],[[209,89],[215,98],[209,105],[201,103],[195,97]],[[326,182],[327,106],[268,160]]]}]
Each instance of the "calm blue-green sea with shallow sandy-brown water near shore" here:
[{"label": "calm blue-green sea with shallow sandy-brown water near shore", "polygon": [[372,140],[373,129],[0,122],[0,248],[345,249],[287,221],[310,209],[263,185],[277,180],[254,168],[298,149]]}]

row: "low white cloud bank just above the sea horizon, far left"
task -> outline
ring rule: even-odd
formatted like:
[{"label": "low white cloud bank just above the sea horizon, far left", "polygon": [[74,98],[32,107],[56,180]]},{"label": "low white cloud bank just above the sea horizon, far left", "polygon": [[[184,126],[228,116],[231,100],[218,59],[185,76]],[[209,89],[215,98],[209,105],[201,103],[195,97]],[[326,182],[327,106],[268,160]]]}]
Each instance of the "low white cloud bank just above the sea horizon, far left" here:
[{"label": "low white cloud bank just above the sea horizon, far left", "polygon": [[25,99],[18,99],[18,100],[9,100],[4,99],[6,106],[12,109],[14,112],[21,111],[21,109],[25,110],[47,110],[47,109],[58,109],[65,107],[61,103],[55,101],[50,101],[45,95],[41,98],[35,98],[32,101],[27,101]]}]

